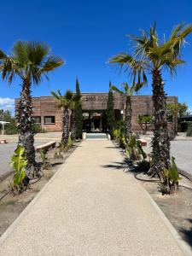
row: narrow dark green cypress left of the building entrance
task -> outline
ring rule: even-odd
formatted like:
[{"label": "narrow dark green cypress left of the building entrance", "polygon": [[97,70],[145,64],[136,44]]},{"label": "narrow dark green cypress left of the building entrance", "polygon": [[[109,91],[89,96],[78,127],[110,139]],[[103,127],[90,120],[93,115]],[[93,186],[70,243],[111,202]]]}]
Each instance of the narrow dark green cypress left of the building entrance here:
[{"label": "narrow dark green cypress left of the building entrance", "polygon": [[77,138],[82,136],[82,103],[81,103],[81,93],[79,89],[79,80],[76,79],[76,102],[75,102],[75,134]]}]

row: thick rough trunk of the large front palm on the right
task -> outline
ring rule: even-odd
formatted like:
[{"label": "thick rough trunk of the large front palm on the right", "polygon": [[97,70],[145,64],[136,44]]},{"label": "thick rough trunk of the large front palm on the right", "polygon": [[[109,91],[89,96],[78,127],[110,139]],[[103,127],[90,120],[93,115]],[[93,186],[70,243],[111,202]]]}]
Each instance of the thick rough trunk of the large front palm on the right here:
[{"label": "thick rough trunk of the large front palm on the right", "polygon": [[153,174],[160,176],[163,168],[170,166],[170,139],[166,120],[166,94],[164,84],[161,79],[160,70],[153,71],[153,103],[154,103],[154,137],[153,147]]}]

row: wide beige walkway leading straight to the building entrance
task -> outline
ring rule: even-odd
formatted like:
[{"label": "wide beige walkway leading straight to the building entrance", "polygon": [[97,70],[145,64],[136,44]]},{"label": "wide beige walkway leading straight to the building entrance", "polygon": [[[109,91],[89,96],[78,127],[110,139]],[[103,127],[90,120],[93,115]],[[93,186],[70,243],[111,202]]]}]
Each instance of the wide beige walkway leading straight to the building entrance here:
[{"label": "wide beige walkway leading straight to the building entrance", "polygon": [[9,228],[0,255],[183,255],[110,141],[85,141]]}]

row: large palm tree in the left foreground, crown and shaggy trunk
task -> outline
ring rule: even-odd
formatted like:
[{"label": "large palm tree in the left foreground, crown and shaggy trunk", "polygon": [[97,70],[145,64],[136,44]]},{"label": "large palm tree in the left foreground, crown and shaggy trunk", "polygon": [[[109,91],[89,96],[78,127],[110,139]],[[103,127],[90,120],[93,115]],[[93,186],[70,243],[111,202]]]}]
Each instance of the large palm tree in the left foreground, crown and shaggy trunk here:
[{"label": "large palm tree in the left foreground, crown and shaggy trunk", "polygon": [[15,118],[19,132],[18,145],[25,148],[29,173],[32,169],[37,171],[32,129],[32,84],[40,84],[44,77],[48,79],[47,73],[63,64],[60,57],[49,55],[49,52],[46,44],[26,41],[16,42],[10,55],[0,50],[0,72],[3,80],[11,84],[17,76],[22,83]]}]

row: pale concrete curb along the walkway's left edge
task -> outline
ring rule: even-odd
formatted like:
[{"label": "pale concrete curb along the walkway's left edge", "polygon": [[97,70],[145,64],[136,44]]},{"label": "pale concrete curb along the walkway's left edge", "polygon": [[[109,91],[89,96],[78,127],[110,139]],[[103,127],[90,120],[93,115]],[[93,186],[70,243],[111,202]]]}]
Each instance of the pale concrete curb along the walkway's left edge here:
[{"label": "pale concrete curb along the walkway's left edge", "polygon": [[[73,153],[74,152],[75,152],[75,150],[73,151]],[[66,160],[68,160],[73,155],[73,153],[70,154]],[[65,162],[66,162],[66,160],[65,160]],[[59,175],[59,173],[63,171],[63,166],[65,165],[65,162],[61,165],[61,167],[58,169],[58,171],[55,172],[54,176],[49,179],[49,182],[44,185],[43,189],[41,189],[38,192],[38,194],[32,199],[32,201],[26,206],[26,208],[23,210],[23,212],[20,212],[20,215],[17,218],[15,218],[15,221],[12,224],[9,225],[9,228],[4,231],[3,235],[0,236],[0,247],[3,245],[3,242],[9,237],[9,235],[15,230],[15,228],[18,226],[18,224],[20,224],[20,221],[24,217],[26,217],[28,212],[31,210],[31,208],[36,204],[38,199],[44,193],[44,190],[47,189],[47,187],[49,187],[49,184],[55,180],[55,177],[57,177]]]}]

